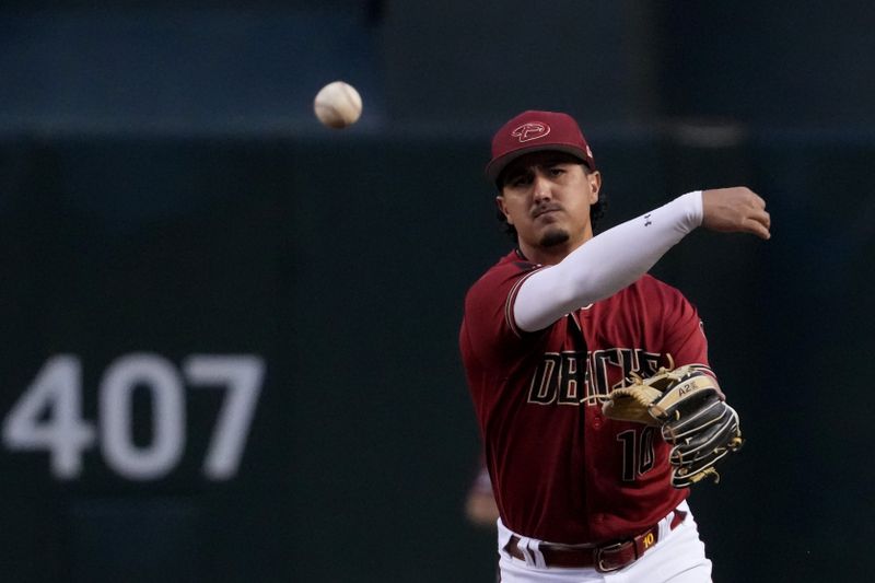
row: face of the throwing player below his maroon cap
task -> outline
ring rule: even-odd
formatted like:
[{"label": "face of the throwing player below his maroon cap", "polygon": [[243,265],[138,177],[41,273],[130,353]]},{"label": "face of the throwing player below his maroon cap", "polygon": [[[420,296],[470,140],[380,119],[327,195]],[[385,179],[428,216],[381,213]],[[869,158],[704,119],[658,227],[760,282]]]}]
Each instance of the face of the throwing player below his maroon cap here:
[{"label": "face of the throwing player below his maroon cap", "polygon": [[532,260],[561,259],[593,236],[590,207],[602,176],[562,152],[535,152],[515,160],[495,198]]}]

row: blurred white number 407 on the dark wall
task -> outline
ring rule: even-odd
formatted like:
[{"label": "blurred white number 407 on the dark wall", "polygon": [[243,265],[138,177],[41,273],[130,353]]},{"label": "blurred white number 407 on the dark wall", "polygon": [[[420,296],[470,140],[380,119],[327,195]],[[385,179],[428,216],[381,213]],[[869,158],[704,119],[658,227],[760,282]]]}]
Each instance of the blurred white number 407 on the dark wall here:
[{"label": "blurred white number 407 on the dark wall", "polygon": [[[101,380],[96,435],[93,423],[82,418],[82,364],[75,355],[58,354],[46,361],[3,420],[3,444],[11,451],[47,451],[51,474],[73,479],[82,471],[82,453],[98,441],[107,465],[119,475],[154,480],[173,470],[185,450],[184,384],[224,387],[203,474],[225,480],[240,466],[264,374],[264,360],[252,354],[196,354],[179,370],[158,354],[119,357]],[[148,445],[133,441],[135,388],[148,389],[152,403]]]}]

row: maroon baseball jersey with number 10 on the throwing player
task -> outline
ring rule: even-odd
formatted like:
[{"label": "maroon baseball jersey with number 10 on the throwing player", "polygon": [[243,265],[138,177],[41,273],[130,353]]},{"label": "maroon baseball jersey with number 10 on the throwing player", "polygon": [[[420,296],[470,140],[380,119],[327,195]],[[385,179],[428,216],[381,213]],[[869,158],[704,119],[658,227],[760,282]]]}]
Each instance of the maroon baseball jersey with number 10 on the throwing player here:
[{"label": "maroon baseball jersey with number 10 on the throwing player", "polygon": [[657,428],[602,415],[599,396],[630,373],[708,364],[696,310],[644,276],[536,333],[518,330],[516,290],[540,266],[518,252],[468,291],[462,357],[502,522],[552,543],[638,534],[687,495],[669,482]]}]

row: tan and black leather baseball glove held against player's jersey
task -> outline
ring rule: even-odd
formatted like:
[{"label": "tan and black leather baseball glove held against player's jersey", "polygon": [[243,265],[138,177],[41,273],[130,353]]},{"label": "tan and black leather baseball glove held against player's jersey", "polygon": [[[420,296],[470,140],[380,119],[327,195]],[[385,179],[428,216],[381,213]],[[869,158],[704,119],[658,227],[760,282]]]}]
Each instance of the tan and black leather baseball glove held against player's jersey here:
[{"label": "tan and black leather baseball glove held against player's jersey", "polygon": [[714,464],[737,452],[744,440],[738,413],[726,405],[707,366],[689,364],[661,369],[650,378],[615,389],[603,405],[605,417],[660,427],[672,445],[672,485],[686,488],[707,476],[720,475]]}]

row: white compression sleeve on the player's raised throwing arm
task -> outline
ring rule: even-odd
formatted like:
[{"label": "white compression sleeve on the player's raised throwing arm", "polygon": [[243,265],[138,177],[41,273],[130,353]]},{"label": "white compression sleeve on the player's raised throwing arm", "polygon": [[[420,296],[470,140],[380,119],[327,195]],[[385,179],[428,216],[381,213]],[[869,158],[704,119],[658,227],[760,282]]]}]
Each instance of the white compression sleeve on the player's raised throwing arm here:
[{"label": "white compression sleeve on the player's raised throwing arm", "polygon": [[697,190],[591,238],[523,282],[513,305],[517,328],[544,329],[574,310],[617,293],[701,223],[702,193]]}]

